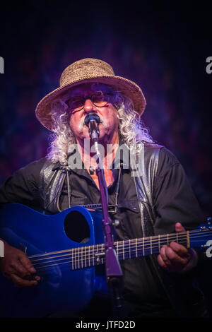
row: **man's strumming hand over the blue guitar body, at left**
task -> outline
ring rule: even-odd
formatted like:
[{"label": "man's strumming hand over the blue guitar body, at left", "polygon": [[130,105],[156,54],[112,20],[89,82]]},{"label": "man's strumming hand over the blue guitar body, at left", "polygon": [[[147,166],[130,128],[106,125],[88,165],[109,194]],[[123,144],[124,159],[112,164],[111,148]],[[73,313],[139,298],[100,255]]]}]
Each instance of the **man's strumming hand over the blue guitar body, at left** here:
[{"label": "man's strumming hand over the blue guitar body, at left", "polygon": [[40,280],[40,277],[35,275],[35,268],[28,257],[6,242],[4,242],[4,258],[0,259],[0,271],[19,287],[37,285]]}]

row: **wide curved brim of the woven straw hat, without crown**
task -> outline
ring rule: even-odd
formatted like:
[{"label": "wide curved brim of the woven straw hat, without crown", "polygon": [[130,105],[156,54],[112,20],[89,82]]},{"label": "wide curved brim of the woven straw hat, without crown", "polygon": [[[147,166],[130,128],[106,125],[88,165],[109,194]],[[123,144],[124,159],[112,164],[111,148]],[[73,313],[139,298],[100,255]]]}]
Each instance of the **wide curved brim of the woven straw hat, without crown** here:
[{"label": "wide curved brim of the woven straw hat, without crown", "polygon": [[139,85],[136,85],[133,81],[128,80],[120,76],[98,76],[98,77],[86,77],[79,81],[69,82],[60,88],[53,90],[51,93],[46,95],[40,100],[35,109],[35,114],[40,123],[45,126],[45,128],[52,130],[52,117],[51,117],[51,107],[52,102],[57,100],[59,95],[64,95],[67,90],[75,87],[76,85],[81,85],[83,83],[104,83],[107,85],[112,85],[114,88],[124,93],[127,97],[131,98],[134,103],[134,109],[139,114],[143,114],[146,107],[146,99],[143,95]]}]

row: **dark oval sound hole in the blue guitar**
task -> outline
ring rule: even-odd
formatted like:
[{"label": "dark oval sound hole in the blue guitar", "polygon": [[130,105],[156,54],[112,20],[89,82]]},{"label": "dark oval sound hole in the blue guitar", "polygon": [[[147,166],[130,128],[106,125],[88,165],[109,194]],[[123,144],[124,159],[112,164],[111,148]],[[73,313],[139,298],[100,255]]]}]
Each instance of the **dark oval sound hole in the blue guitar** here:
[{"label": "dark oval sound hole in the blue guitar", "polygon": [[64,220],[67,237],[75,242],[86,243],[90,239],[90,227],[86,218],[78,211],[72,211]]}]

